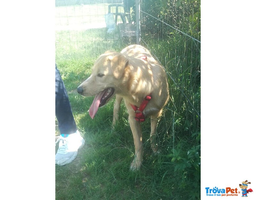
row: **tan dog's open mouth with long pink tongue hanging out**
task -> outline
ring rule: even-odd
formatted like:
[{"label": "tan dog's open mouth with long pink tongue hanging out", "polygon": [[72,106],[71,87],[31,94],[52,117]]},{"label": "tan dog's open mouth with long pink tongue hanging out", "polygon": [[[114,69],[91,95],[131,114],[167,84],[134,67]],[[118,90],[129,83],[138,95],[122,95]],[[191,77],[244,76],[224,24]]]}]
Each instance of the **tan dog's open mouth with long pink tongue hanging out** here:
[{"label": "tan dog's open mouth with long pink tongue hanging out", "polygon": [[99,107],[105,105],[109,101],[110,97],[113,96],[114,92],[115,92],[114,88],[107,88],[94,97],[92,105],[89,109],[89,115],[91,116],[92,119],[97,113]]}]

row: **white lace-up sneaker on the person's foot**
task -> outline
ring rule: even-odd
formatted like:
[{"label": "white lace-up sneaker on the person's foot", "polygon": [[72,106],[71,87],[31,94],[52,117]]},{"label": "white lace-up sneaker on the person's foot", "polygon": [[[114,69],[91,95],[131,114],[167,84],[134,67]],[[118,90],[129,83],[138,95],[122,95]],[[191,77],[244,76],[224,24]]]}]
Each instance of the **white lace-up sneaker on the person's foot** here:
[{"label": "white lace-up sneaker on the person's foot", "polygon": [[56,165],[66,165],[72,162],[76,158],[77,150],[84,145],[84,139],[78,130],[69,135],[61,134],[55,142],[55,146],[58,142],[59,149],[55,155]]}]

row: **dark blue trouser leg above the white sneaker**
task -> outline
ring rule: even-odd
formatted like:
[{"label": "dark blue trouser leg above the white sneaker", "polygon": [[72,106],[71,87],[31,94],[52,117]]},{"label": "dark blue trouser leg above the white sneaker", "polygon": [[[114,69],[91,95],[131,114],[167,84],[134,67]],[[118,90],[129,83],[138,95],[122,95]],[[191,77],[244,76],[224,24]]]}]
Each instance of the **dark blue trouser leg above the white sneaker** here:
[{"label": "dark blue trouser leg above the white sneaker", "polygon": [[77,130],[71,111],[67,90],[62,81],[60,71],[55,64],[55,116],[59,123],[60,134],[71,134]]}]

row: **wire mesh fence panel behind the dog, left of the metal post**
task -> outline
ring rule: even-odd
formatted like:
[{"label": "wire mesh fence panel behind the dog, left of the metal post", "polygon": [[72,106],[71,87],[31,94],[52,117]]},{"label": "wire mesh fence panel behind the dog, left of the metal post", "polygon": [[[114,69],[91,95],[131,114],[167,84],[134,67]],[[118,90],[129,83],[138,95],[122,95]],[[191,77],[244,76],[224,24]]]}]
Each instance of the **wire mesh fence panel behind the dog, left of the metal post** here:
[{"label": "wire mesh fence panel behind the dog, left of the metal post", "polygon": [[122,0],[56,0],[55,6],[56,62],[97,57],[134,40],[133,11]]}]

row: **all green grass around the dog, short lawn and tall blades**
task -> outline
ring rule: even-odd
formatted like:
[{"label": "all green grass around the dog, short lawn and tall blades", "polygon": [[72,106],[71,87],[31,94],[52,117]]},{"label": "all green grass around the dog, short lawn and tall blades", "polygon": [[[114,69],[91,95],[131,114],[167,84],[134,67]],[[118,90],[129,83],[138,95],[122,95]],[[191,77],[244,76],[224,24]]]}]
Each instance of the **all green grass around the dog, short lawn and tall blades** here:
[{"label": "all green grass around the dog, short lawn and tall blades", "polygon": [[[79,46],[72,38],[85,40]],[[200,199],[200,46],[179,34],[162,40],[142,35],[166,68],[171,99],[157,128],[161,153],[150,149],[148,118],[141,124],[144,161],[139,171],[131,171],[134,144],[125,105],[112,129],[114,100],[92,120],[87,111],[93,97],[76,92],[101,53],[127,45],[111,38],[104,28],[56,33],[57,43],[62,42],[56,45],[56,62],[86,141],[72,163],[56,166],[56,199]]]}]

